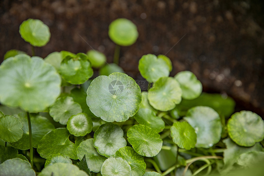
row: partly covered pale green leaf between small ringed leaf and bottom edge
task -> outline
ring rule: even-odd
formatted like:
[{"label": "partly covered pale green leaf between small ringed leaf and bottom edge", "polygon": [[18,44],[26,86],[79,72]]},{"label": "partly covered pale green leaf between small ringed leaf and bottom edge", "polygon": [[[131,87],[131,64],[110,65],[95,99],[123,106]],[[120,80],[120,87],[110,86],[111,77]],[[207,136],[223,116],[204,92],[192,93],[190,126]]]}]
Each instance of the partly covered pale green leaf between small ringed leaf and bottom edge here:
[{"label": "partly covered pale green leaf between small ringed leaf and bottom edge", "polygon": [[85,155],[88,168],[93,172],[100,172],[103,162],[107,158],[96,151],[96,148],[93,146],[93,140],[94,139],[91,138],[81,142],[77,147],[77,155],[79,160],[82,160]]}]

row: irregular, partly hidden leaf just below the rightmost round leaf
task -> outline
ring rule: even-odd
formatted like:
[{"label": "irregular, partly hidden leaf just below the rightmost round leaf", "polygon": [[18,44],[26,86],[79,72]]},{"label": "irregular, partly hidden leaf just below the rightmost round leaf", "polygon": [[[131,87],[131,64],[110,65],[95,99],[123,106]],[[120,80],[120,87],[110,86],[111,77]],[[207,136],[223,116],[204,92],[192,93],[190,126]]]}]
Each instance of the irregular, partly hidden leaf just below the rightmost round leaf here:
[{"label": "irregular, partly hidden leaf just below the rightmost round leaf", "polygon": [[252,147],[242,147],[234,143],[230,138],[224,139],[223,143],[226,144],[226,150],[223,152],[223,160],[224,160],[224,168],[222,170],[223,173],[228,173],[233,165],[237,162],[239,156],[243,153],[247,153],[250,151],[263,151],[263,147],[256,143]]}]

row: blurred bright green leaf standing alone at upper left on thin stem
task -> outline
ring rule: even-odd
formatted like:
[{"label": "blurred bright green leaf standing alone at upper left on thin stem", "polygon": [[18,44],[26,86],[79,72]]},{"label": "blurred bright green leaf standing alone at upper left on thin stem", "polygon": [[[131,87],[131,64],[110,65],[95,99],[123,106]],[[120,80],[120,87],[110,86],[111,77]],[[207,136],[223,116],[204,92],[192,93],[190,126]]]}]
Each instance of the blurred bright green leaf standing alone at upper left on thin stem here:
[{"label": "blurred bright green leaf standing alone at upper left on thin stem", "polygon": [[37,19],[28,19],[19,26],[21,37],[33,46],[45,46],[49,42],[49,27]]}]

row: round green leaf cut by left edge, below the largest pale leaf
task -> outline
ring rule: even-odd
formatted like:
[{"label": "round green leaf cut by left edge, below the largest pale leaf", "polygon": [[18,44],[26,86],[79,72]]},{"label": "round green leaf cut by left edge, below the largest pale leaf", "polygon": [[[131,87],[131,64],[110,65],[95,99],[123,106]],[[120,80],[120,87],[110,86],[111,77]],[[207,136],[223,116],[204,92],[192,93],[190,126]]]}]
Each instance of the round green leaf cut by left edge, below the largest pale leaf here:
[{"label": "round green leaf cut by left edge, below the largest pale leaf", "polygon": [[4,115],[0,117],[0,138],[6,142],[16,142],[22,138],[22,127],[19,119],[13,115]]}]

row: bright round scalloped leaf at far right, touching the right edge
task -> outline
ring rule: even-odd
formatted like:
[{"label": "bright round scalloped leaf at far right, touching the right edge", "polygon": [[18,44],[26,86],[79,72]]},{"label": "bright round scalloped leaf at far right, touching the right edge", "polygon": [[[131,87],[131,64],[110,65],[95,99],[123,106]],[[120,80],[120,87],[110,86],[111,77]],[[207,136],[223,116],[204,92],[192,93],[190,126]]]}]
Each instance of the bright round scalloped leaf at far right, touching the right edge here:
[{"label": "bright round scalloped leaf at far right, touching the right edge", "polygon": [[264,121],[251,111],[231,115],[227,129],[230,138],[240,146],[251,147],[264,139]]}]

